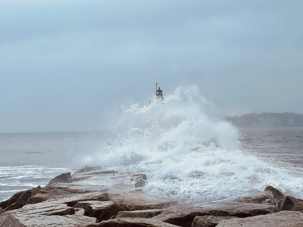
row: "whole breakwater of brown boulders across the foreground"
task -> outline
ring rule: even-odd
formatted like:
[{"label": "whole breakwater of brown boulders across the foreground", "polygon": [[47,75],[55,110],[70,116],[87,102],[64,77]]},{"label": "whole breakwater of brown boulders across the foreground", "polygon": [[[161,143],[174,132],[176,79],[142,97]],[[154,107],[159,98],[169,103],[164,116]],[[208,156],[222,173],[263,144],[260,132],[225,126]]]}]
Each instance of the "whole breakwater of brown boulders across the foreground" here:
[{"label": "whole breakwater of brown boulders across the foreground", "polygon": [[202,206],[148,195],[142,192],[145,181],[144,174],[102,171],[99,166],[86,166],[72,176],[63,173],[43,188],[0,202],[0,227],[303,227],[303,200],[271,186]]}]

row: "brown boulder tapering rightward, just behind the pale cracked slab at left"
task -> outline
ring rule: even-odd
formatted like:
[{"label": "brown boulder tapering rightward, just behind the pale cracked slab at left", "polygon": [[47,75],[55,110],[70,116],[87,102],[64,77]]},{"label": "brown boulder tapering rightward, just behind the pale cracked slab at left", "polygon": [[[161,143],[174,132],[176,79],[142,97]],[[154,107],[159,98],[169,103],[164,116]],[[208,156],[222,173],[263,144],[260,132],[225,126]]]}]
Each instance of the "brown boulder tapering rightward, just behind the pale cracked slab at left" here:
[{"label": "brown boulder tapering rightward, just behind the pale cracked slab at left", "polygon": [[55,186],[49,186],[42,188],[36,195],[30,197],[27,200],[27,204],[34,204],[38,202],[43,202],[49,199],[57,199],[62,197],[70,197],[75,194],[88,193],[92,192],[91,190],[77,190],[70,188],[59,188]]}]

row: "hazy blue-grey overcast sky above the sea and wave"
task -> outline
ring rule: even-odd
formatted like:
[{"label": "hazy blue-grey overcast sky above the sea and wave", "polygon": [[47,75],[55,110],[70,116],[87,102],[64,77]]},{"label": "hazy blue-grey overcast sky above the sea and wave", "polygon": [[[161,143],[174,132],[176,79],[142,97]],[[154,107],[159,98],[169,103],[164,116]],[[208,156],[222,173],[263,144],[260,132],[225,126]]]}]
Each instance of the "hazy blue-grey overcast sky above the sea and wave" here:
[{"label": "hazy blue-grey overcast sky above the sea and wave", "polygon": [[156,82],[165,94],[197,85],[225,115],[303,113],[302,10],[301,0],[1,0],[0,133],[102,130]]}]

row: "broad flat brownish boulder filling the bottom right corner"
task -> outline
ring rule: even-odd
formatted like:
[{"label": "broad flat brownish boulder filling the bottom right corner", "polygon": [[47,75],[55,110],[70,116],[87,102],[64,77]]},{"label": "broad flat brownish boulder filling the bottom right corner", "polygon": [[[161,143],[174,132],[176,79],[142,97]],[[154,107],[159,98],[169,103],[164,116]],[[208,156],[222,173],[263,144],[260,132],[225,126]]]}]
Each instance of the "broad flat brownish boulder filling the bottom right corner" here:
[{"label": "broad flat brownish boulder filling the bottom right corner", "polygon": [[303,227],[303,213],[281,211],[274,214],[235,218],[219,222],[216,227]]}]

